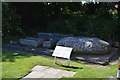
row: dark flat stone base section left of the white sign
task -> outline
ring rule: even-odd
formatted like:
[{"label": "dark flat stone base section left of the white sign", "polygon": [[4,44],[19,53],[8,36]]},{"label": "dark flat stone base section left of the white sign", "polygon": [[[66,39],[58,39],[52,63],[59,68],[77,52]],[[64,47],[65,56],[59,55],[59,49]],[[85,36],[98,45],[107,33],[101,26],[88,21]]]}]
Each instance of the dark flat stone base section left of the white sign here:
[{"label": "dark flat stone base section left of the white sign", "polygon": [[34,53],[34,54],[47,55],[47,56],[51,56],[53,53],[52,49],[33,47],[33,46],[13,45],[13,44],[6,44],[2,48],[6,50],[12,50],[14,52]]}]

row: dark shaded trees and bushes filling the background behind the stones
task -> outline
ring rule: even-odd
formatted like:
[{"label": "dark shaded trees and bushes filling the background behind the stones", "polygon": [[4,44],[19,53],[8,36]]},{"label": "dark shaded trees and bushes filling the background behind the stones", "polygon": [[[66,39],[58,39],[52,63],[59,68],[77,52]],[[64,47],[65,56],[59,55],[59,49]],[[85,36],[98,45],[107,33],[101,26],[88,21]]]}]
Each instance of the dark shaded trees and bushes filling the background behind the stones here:
[{"label": "dark shaded trees and bushes filling the background behind the stones", "polygon": [[3,38],[56,32],[119,41],[119,5],[120,2],[4,2]]}]

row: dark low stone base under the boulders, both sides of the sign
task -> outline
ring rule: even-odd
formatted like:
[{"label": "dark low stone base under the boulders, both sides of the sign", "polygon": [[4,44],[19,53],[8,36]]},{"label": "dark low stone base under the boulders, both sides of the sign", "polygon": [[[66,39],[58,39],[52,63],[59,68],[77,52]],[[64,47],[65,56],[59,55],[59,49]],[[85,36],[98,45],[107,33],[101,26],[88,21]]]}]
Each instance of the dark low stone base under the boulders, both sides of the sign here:
[{"label": "dark low stone base under the boulders, both sides of the sign", "polygon": [[[6,44],[3,45],[2,49],[6,50],[12,50],[19,53],[33,53],[38,55],[44,55],[44,56],[52,56],[53,49],[48,48],[42,48],[42,47],[33,47],[33,46],[21,46],[21,45],[13,45],[13,44]],[[90,63],[96,63],[96,64],[108,64],[109,62],[113,62],[115,60],[118,60],[119,58],[119,48],[112,48],[112,51],[109,54],[104,55],[95,55],[95,54],[71,54],[71,60],[81,60],[81,61],[87,61]]]}]

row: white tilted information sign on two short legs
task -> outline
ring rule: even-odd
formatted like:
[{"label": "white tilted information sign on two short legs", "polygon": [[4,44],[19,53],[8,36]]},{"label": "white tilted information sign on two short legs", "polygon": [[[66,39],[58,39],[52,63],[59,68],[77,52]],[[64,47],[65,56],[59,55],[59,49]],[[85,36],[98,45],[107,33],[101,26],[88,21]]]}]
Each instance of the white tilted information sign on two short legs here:
[{"label": "white tilted information sign on two short legs", "polygon": [[52,56],[54,56],[54,64],[56,63],[57,57],[67,58],[68,59],[68,65],[70,66],[70,54],[72,52],[72,48],[70,47],[62,47],[62,46],[56,46]]}]

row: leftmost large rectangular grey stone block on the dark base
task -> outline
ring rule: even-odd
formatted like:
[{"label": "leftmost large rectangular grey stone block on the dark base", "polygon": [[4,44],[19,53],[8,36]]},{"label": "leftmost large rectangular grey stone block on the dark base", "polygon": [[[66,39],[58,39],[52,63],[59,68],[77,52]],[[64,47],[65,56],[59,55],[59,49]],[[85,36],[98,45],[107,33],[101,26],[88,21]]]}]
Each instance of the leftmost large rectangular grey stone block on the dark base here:
[{"label": "leftmost large rectangular grey stone block on the dark base", "polygon": [[38,47],[41,46],[44,41],[42,38],[20,39],[20,44]]}]

